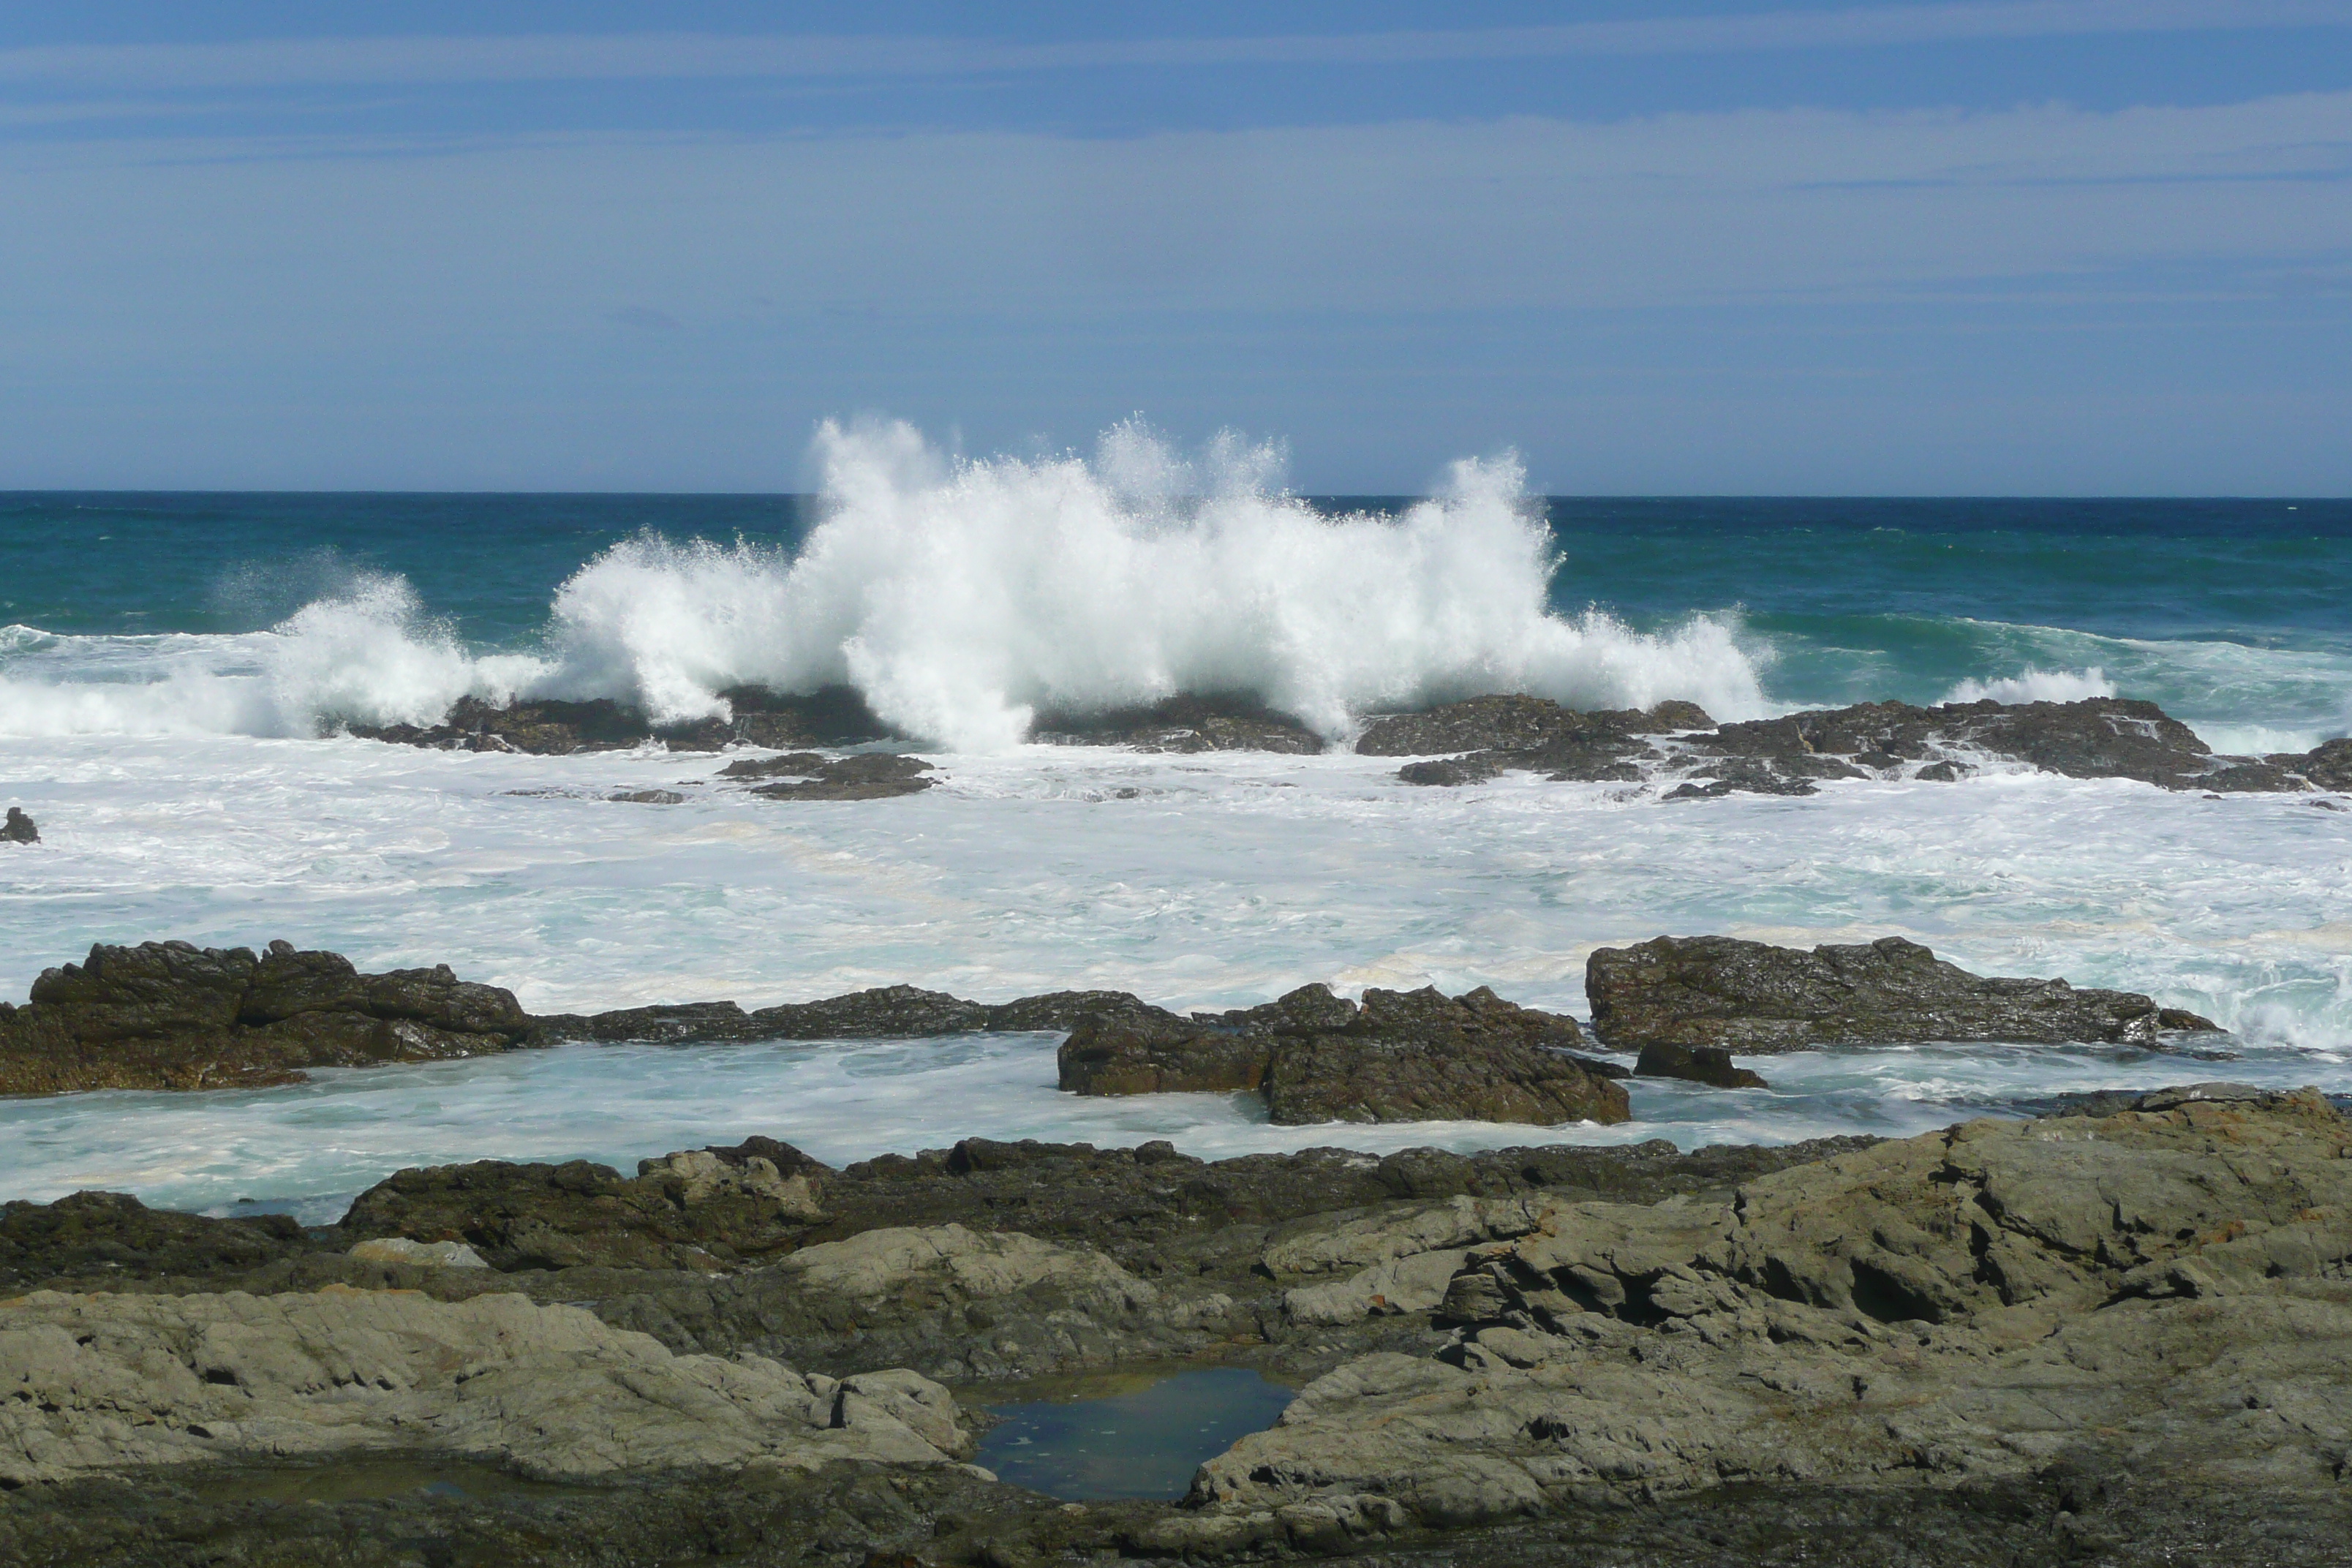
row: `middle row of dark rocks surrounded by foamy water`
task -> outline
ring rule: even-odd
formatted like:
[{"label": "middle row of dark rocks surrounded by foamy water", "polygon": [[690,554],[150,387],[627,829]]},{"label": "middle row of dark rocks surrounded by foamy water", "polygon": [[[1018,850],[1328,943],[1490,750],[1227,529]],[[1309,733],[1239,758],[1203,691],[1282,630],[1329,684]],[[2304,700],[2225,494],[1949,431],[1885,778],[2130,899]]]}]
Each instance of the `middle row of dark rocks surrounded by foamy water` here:
[{"label": "middle row of dark rocks surrounded by foamy water", "polygon": [[447,964],[360,973],[339,952],[96,943],[0,1001],[0,1098],[89,1088],[266,1088],[308,1067],[454,1060],[553,1044],[924,1039],[1058,1032],[1061,1088],[1084,1095],[1258,1091],[1277,1124],[1625,1121],[1630,1074],[1762,1086],[1731,1053],[1917,1041],[2107,1041],[2216,1034],[2138,992],[1985,978],[1903,938],[1811,952],[1661,936],[1585,964],[1592,1056],[1566,1013],[1479,987],[1303,985],[1221,1013],[1171,1013],[1134,992],[1044,992],[983,1004],[915,985],[743,1009],[684,1001],[527,1013]]}]

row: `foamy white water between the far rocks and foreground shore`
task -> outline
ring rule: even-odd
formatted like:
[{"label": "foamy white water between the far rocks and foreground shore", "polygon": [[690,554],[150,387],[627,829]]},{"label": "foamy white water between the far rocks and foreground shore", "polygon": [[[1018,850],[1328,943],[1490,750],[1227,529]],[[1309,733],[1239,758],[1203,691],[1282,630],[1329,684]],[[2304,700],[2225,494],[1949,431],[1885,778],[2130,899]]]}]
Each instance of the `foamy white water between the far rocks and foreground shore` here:
[{"label": "foamy white water between the far rocks and foreground shore", "polygon": [[[1879,1051],[1764,1060],[1776,1088],[1642,1084],[1623,1128],[1270,1128],[1221,1095],[1054,1091],[1051,1039],[574,1048],[233,1095],[0,1107],[0,1197],[80,1185],[334,1208],[445,1159],[628,1161],[769,1133],[826,1159],[960,1135],[1174,1138],[1197,1154],[1919,1131],[2056,1091],[2211,1077],[2352,1091],[2352,813],[2034,773],[1658,804],[1392,759],[941,752],[889,802],[769,802],[722,759],[367,741],[54,738],[5,750],[45,842],[0,856],[0,994],[92,940],[285,936],[367,969],[449,961],[534,1011],[917,983],[1108,985],[1235,1006],[1308,980],[1494,985],[1583,1011],[1595,945],[1661,931],[1910,936],[1990,973],[2145,990],[2241,1060]],[[687,804],[597,799],[675,788]],[[560,790],[564,795],[510,795]]]}]

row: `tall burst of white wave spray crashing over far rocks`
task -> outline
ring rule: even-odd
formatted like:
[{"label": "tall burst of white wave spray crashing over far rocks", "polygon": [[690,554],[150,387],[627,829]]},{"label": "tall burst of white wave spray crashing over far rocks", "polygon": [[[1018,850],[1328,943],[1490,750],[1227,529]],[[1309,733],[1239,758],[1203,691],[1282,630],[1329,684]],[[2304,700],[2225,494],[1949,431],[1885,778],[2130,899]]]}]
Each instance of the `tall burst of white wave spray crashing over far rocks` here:
[{"label": "tall burst of white wave spray crashing over far rocks", "polygon": [[1766,710],[1729,621],[1649,635],[1555,614],[1559,562],[1515,458],[1456,463],[1397,517],[1336,520],[1279,489],[1277,447],[1225,437],[1185,461],[1134,423],[1091,458],[950,461],[903,423],[828,421],[816,463],[823,515],[797,550],[619,543],[555,592],[536,654],[470,651],[405,581],[362,574],[247,637],[26,628],[0,731],[299,736],[428,724],[468,693],[609,696],[675,722],[724,715],[739,684],[851,684],[950,750],[1178,691],[1249,691],[1327,736],[1486,691]]}]

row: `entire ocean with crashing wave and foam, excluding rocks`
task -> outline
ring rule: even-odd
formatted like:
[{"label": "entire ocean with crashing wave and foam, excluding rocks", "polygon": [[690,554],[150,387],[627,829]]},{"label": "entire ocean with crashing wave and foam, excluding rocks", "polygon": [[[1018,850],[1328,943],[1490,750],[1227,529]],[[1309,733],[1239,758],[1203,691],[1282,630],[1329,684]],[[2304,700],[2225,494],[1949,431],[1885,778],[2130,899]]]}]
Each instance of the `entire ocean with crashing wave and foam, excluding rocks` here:
[{"label": "entire ocean with crashing wave and foam, excluding rocks", "polygon": [[[572,1046],[209,1095],[0,1103],[0,1199],[75,1187],[336,1218],[400,1166],[630,1161],[767,1133],[828,1161],[960,1135],[1338,1143],[1912,1133],[2194,1079],[2352,1091],[2352,813],[1992,771],[1661,804],[1395,759],[1025,743],[1044,710],[1256,691],[1345,743],[1479,691],[1717,719],[2119,693],[2218,750],[2352,733],[2347,501],[1305,498],[1270,451],[957,463],[828,430],[816,496],[0,496],[0,997],[94,940],[447,961],[534,1011],[915,983],[1240,1006],[1494,985],[1583,1013],[1597,945],[1907,936],[1985,973],[2145,990],[2227,1060],[1919,1046],[1637,1081],[1635,1121],[1275,1128],[1228,1095],[1077,1100],[1054,1037]],[[466,693],[663,719],[847,682],[946,783],[710,788],[720,757],[433,752],[336,733]],[[604,795],[666,788],[682,804]],[[529,795],[517,795],[527,790]]]}]

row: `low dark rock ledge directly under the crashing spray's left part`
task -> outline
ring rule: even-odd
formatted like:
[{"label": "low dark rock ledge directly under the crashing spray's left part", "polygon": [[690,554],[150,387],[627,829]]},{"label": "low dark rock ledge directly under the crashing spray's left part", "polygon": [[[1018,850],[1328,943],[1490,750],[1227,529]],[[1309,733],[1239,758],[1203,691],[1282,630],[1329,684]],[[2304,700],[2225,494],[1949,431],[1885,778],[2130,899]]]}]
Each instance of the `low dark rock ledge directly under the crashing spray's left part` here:
[{"label": "low dark rock ledge directly under the crashing spray's left part", "polygon": [[849,686],[826,686],[807,696],[776,693],[764,686],[729,686],[720,698],[729,708],[724,719],[654,724],[635,708],[623,708],[612,698],[496,705],[463,696],[440,724],[346,724],[343,733],[360,741],[435,750],[532,752],[539,757],[619,752],[649,741],[661,741],[670,750],[715,752],[739,743],[795,748],[898,738]]}]

